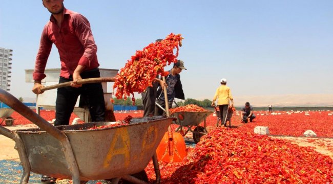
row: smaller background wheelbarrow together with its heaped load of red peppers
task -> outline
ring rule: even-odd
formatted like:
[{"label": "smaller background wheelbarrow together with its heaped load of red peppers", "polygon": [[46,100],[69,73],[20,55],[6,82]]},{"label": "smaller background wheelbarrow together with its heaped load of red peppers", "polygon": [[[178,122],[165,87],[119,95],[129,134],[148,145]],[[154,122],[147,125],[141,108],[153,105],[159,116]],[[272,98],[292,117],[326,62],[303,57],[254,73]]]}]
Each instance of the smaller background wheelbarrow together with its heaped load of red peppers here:
[{"label": "smaller background wheelbarrow together with its heaped load of red peppers", "polygon": [[[185,136],[189,131],[193,133],[193,141],[198,143],[202,135],[207,134],[206,117],[210,116],[214,111],[205,110],[197,105],[186,105],[170,109],[170,117],[175,117],[173,123],[179,125],[176,132],[180,132]],[[201,122],[203,126],[199,126]],[[195,128],[194,128],[195,127]]]}]

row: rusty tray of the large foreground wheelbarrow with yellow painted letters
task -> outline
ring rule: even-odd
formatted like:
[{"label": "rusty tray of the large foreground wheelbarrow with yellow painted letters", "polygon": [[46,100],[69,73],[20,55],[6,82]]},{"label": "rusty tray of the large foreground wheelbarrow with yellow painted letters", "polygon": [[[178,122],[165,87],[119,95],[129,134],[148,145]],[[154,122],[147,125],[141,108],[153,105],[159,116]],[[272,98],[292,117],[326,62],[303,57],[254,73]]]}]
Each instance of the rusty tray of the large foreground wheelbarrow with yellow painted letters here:
[{"label": "rusty tray of the large foreground wheelbarrow with yellow painted letters", "polygon": [[[56,126],[71,144],[80,180],[121,177],[144,170],[173,118],[133,118],[131,124],[89,129],[112,122]],[[31,171],[55,178],[71,179],[63,147],[39,128],[16,130],[23,140]]]}]

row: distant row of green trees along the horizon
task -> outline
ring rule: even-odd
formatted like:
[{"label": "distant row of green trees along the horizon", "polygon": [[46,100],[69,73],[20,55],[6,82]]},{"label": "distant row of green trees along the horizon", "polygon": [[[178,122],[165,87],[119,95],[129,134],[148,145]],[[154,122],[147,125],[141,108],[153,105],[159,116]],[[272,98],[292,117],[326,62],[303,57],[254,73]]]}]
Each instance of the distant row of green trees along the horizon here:
[{"label": "distant row of green trees along the horizon", "polygon": [[[113,103],[114,105],[133,105],[131,98],[127,98],[126,100],[113,98],[113,100],[114,100],[114,103]],[[200,107],[211,107],[212,101],[208,100],[208,99],[196,100],[196,99],[188,98],[182,102],[177,102],[177,104],[179,106],[186,106],[189,104],[194,104],[194,105],[198,105]],[[142,105],[142,100],[140,98],[135,99],[134,105],[136,105],[136,106]]]}]

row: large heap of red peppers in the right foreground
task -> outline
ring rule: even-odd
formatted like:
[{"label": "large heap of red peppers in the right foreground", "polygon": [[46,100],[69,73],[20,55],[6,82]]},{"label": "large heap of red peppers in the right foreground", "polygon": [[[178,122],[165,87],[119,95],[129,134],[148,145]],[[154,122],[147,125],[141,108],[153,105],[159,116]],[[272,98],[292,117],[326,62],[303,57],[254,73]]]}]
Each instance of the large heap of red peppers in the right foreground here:
[{"label": "large heap of red peppers in the right foreground", "polygon": [[[332,183],[333,160],[267,135],[218,128],[183,163],[160,162],[161,183]],[[154,179],[152,164],[146,168]]]}]

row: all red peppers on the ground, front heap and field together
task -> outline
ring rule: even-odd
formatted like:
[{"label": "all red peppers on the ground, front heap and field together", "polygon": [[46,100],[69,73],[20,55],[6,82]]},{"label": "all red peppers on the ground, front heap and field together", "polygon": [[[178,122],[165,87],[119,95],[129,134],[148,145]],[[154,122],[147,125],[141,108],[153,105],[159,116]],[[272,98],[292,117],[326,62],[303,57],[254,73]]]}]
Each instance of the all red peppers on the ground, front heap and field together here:
[{"label": "all red peppers on the ground, front heap and field together", "polygon": [[[188,148],[183,162],[160,162],[161,183],[333,183],[333,156],[280,139],[313,130],[317,138],[303,139],[333,155],[332,111],[255,111],[257,118],[246,124],[237,114],[231,128],[216,127],[215,114],[207,117],[209,133]],[[141,117],[142,111],[115,112],[117,120],[128,115]],[[14,125],[31,124],[16,112],[12,117]],[[51,121],[54,111],[41,110],[41,117]],[[255,134],[256,126],[267,126],[270,136]],[[145,170],[153,182],[152,162]]]}]

